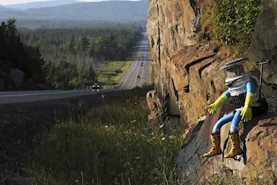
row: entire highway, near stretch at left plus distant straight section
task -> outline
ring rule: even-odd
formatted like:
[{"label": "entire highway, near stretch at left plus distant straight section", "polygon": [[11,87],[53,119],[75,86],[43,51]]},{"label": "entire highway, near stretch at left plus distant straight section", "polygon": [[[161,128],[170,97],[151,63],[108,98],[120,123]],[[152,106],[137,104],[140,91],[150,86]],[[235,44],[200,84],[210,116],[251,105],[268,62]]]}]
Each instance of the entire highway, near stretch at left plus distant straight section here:
[{"label": "entire highway, near stretch at left plus distant straight section", "polygon": [[[136,86],[142,87],[145,81],[149,83],[150,58],[148,57],[149,41],[146,33],[143,33],[139,42],[132,65],[122,80],[119,89],[132,89]],[[140,76],[140,78],[138,78]],[[93,94],[105,94],[117,89],[100,89],[100,92],[90,90],[46,90],[46,91],[0,91],[0,105],[10,103],[26,103],[43,100],[57,100],[63,98],[74,98],[78,96],[89,96]]]}]

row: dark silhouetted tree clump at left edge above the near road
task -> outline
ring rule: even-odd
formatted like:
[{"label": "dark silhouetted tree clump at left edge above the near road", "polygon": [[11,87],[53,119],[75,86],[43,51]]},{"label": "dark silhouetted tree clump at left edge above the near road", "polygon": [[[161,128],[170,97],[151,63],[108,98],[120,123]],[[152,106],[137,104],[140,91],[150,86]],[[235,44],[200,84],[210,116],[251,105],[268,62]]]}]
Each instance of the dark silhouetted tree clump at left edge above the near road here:
[{"label": "dark silhouetted tree clump at left edge above the near road", "polygon": [[24,82],[27,84],[30,81],[45,83],[42,55],[37,47],[26,46],[21,42],[15,21],[15,19],[9,19],[7,23],[2,22],[0,26],[0,89],[2,91],[19,89],[19,85],[10,76],[10,69],[15,68],[24,71]]}]

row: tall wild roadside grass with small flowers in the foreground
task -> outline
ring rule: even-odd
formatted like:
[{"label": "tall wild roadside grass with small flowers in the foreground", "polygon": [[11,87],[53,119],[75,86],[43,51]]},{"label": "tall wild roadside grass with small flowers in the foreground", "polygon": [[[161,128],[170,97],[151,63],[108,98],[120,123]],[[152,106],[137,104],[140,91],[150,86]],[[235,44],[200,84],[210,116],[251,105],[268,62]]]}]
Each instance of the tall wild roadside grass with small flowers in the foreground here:
[{"label": "tall wild roadside grass with small flowers in the foreground", "polygon": [[149,124],[146,100],[136,91],[124,100],[103,99],[80,121],[38,136],[30,162],[33,184],[178,184],[181,130]]}]

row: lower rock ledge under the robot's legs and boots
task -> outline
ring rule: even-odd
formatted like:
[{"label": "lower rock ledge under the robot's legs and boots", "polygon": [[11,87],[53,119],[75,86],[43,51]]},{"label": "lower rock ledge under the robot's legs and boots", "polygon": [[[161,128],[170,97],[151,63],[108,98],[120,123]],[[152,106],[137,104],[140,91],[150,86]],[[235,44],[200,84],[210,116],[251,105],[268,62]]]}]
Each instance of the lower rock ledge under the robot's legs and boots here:
[{"label": "lower rock ledge under the robot's legs and boots", "polygon": [[[203,177],[209,177],[220,173],[220,168],[225,166],[231,170],[234,177],[244,179],[251,183],[256,181],[273,184],[277,177],[277,114],[268,112],[249,123],[240,123],[241,146],[244,150],[242,159],[222,159],[222,155],[217,157],[203,157],[205,152],[211,148],[210,133],[213,125],[222,117],[226,111],[231,111],[233,107],[224,106],[217,114],[208,114],[205,121],[200,121],[193,130],[190,139],[183,146],[179,154],[179,166],[183,182],[203,181]],[[224,142],[228,138],[230,123],[227,123],[221,130],[221,148],[224,149]],[[227,145],[225,152],[229,152]],[[260,182],[260,183],[259,183]]]}]

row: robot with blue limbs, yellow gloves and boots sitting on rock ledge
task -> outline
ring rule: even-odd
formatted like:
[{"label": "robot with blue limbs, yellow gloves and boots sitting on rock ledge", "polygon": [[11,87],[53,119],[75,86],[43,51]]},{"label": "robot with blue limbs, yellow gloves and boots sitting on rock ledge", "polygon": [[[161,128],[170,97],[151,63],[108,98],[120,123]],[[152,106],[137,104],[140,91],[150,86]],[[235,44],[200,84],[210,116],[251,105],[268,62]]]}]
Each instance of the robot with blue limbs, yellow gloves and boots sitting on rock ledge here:
[{"label": "robot with blue limbs, yellow gloves and boots sitting on rock ledge", "polygon": [[[207,109],[210,114],[215,114],[217,109],[228,100],[234,105],[235,109],[215,123],[213,132],[211,133],[212,148],[209,152],[204,154],[204,157],[213,157],[222,154],[220,148],[220,129],[224,124],[230,121],[231,129],[229,132],[229,139],[231,141],[231,150],[228,154],[224,155],[224,157],[230,158],[242,155],[243,151],[240,148],[240,136],[238,133],[240,120],[245,123],[251,121],[253,116],[258,116],[259,114],[267,112],[267,102],[265,98],[260,98],[259,79],[253,76],[253,73],[249,71],[247,63],[245,62],[246,60],[247,58],[240,58],[227,62],[220,67],[220,69],[224,69],[226,78],[225,85],[228,87],[228,90],[217,98],[215,103],[208,105],[205,109]],[[252,116],[252,114],[255,115]]]}]

